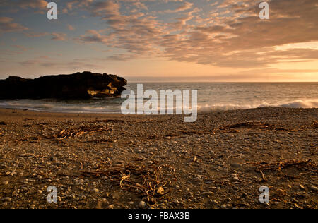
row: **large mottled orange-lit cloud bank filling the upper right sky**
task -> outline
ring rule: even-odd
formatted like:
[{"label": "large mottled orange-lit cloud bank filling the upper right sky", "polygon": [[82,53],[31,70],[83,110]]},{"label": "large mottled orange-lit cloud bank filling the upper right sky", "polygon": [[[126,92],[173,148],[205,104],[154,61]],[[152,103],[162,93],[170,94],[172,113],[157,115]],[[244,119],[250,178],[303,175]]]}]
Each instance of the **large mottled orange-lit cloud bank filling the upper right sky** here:
[{"label": "large mottled orange-lit cloud bank filling the upper right sky", "polygon": [[[107,44],[127,52],[110,56],[110,59],[126,61],[158,56],[233,68],[269,66],[283,59],[317,59],[316,50],[275,49],[283,44],[318,40],[318,11],[311,0],[293,3],[271,0],[271,19],[266,21],[259,19],[260,9],[254,1],[225,0],[218,6],[215,4],[211,11],[216,16],[213,18],[204,18],[194,3],[180,1],[177,8],[160,12],[181,13],[170,23],[162,23],[157,17],[138,11],[124,13],[120,11],[120,2],[128,1],[82,2],[92,16],[105,20],[112,30],[107,34],[89,30],[78,40]],[[137,9],[143,8],[141,1],[129,2]],[[225,14],[227,16],[223,16]],[[208,20],[213,22],[206,22]]]}]

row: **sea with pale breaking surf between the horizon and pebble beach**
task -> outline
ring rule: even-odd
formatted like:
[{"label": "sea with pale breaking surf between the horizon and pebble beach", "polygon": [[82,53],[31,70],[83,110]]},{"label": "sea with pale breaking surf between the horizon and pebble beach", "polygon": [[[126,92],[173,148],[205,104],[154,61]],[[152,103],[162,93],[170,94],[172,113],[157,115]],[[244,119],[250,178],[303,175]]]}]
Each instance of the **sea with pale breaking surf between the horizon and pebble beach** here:
[{"label": "sea with pale breaking surf between the horizon and pebble beach", "polygon": [[[129,83],[126,88],[137,92],[136,86],[137,83]],[[198,111],[318,107],[318,83],[143,83],[143,91],[145,90],[198,90]],[[0,100],[0,107],[32,111],[118,114],[121,112],[122,102],[124,99],[121,98]]]}]

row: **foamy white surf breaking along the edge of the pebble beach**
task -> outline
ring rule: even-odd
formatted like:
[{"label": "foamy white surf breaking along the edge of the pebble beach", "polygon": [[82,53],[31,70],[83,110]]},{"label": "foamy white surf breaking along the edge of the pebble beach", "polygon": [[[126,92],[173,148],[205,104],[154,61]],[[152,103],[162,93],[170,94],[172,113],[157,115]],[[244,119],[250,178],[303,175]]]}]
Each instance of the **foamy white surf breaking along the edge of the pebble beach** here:
[{"label": "foamy white surf breaking along the edge of the pebble beach", "polygon": [[[121,101],[97,102],[57,102],[54,100],[1,100],[0,107],[8,109],[26,109],[31,111],[66,112],[66,113],[121,113]],[[254,109],[259,107],[318,108],[318,100],[295,100],[285,102],[254,102],[204,104],[198,102],[198,111]],[[167,108],[174,110],[175,108]]]}]

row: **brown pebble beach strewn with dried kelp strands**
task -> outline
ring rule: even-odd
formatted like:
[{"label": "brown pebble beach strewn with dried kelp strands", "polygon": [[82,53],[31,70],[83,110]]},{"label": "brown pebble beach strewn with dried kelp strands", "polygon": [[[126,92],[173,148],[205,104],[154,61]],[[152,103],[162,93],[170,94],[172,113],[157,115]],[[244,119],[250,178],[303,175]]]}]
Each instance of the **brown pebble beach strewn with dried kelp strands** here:
[{"label": "brown pebble beach strewn with dried kelp strands", "polygon": [[0,208],[317,208],[318,109],[183,117],[0,109]]}]

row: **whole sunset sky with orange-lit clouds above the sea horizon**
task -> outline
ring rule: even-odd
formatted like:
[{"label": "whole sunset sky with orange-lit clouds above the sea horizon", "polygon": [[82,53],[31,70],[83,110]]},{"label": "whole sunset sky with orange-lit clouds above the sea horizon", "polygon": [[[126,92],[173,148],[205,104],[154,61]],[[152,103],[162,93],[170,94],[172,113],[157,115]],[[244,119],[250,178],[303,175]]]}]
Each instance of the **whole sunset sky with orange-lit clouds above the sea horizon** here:
[{"label": "whole sunset sky with orange-lit clouds above the sea horizon", "polygon": [[92,71],[131,82],[318,81],[318,1],[1,0],[0,79]]}]

